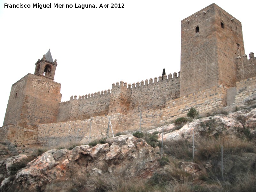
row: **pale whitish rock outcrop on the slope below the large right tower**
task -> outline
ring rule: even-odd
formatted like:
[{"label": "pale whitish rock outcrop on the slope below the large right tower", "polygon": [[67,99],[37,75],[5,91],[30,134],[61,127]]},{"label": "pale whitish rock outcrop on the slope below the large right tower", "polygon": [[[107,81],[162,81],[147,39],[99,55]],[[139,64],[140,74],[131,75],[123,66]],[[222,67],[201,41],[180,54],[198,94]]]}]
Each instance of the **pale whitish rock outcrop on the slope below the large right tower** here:
[{"label": "pale whitish rock outcrop on the slope below the large right tower", "polygon": [[[163,140],[192,140],[193,130],[194,136],[200,138],[201,136],[217,136],[225,134],[227,137],[236,137],[241,134],[244,129],[250,130],[255,134],[254,127],[256,125],[256,108],[251,111],[243,109],[226,115],[215,115],[196,119],[188,124],[185,124],[179,130],[164,133]],[[173,124],[174,127],[174,124]],[[174,128],[175,129],[175,128]],[[162,134],[159,134],[159,141],[162,140]]]}]

